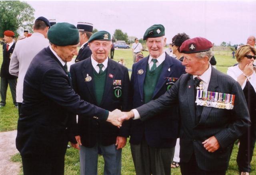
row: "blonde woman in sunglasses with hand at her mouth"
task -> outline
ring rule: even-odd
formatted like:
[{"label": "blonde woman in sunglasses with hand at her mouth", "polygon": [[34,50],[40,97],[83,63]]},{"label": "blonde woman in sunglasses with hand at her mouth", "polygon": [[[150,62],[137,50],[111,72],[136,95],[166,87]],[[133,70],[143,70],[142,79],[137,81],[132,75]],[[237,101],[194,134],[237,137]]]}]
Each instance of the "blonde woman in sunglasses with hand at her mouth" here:
[{"label": "blonde woman in sunglasses with hand at her mouth", "polygon": [[256,69],[253,65],[256,59],[256,49],[250,45],[242,45],[236,51],[238,65],[229,67],[227,74],[238,81],[246,98],[251,126],[242,135],[236,162],[241,175],[249,175],[251,171],[250,162],[256,141]]}]

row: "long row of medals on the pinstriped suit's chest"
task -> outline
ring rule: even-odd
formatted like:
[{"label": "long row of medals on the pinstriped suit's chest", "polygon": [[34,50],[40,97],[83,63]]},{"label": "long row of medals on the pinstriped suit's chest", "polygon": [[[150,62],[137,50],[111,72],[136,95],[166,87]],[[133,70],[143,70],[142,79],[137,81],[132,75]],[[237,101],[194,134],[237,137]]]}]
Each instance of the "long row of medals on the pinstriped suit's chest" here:
[{"label": "long row of medals on the pinstriped suit's chest", "polygon": [[235,95],[221,92],[210,92],[198,89],[196,92],[196,104],[221,109],[234,108]]}]

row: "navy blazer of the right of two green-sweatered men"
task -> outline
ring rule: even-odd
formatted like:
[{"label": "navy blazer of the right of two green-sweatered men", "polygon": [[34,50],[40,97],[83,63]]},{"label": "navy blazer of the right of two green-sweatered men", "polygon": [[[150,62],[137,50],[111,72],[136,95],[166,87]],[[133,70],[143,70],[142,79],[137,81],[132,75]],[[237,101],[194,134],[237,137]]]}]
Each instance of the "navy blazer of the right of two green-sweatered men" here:
[{"label": "navy blazer of the right of two green-sweatered men", "polygon": [[[133,108],[144,104],[144,80],[146,77],[146,70],[148,67],[148,57],[134,63],[132,67],[132,92],[133,92]],[[179,78],[185,73],[185,67],[182,63],[173,57],[166,54],[165,60],[162,63],[162,73],[158,79],[158,83],[154,90],[152,99],[156,99],[167,90],[166,77]],[[139,70],[144,73],[138,74]],[[160,117],[160,120],[159,120]],[[173,105],[168,110],[157,114],[147,121],[132,120],[130,131],[130,143],[140,144],[143,136],[151,147],[173,147],[176,144],[178,137],[178,106]]]}]

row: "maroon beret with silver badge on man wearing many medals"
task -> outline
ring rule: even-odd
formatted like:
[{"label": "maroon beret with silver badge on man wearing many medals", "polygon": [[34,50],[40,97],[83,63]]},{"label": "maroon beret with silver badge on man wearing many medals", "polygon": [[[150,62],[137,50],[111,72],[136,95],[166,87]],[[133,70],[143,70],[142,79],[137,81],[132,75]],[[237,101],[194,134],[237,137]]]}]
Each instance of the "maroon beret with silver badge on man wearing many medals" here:
[{"label": "maroon beret with silver badge on man wearing many medals", "polygon": [[180,46],[181,53],[198,53],[209,51],[212,47],[212,42],[203,37],[195,37],[188,39]]}]

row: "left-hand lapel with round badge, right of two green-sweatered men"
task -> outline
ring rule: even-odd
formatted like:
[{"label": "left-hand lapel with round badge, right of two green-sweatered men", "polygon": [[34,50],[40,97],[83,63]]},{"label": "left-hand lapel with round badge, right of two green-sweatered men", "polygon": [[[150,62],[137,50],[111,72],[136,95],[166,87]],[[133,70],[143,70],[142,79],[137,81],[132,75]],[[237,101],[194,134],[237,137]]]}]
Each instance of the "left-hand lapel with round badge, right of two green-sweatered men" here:
[{"label": "left-hand lapel with round badge, right of two green-sweatered men", "polygon": [[[140,98],[141,99],[144,99],[144,92],[143,92],[143,89],[144,89],[144,80],[145,80],[145,77],[146,77],[146,73],[147,73],[147,67],[148,67],[148,59],[149,59],[149,55],[147,57],[147,59],[142,59],[139,61],[139,63],[141,63],[139,66],[138,66],[138,69],[135,70],[138,74],[138,84],[139,84],[139,90],[140,90]],[[142,70],[143,73],[140,75],[138,73],[138,71]]]}]

